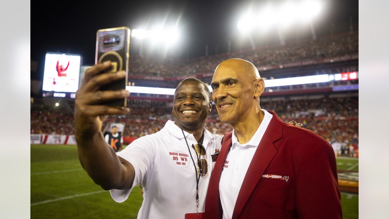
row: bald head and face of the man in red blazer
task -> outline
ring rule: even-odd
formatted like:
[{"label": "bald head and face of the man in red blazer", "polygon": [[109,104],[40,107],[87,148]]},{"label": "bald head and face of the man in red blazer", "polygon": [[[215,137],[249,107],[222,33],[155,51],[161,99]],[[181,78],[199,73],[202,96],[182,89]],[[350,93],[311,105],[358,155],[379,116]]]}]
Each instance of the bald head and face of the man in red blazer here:
[{"label": "bald head and face of the man in red blazer", "polygon": [[239,58],[225,60],[217,66],[211,87],[212,101],[216,104],[221,122],[234,127],[258,115],[259,96],[265,89],[265,83],[251,62]]}]

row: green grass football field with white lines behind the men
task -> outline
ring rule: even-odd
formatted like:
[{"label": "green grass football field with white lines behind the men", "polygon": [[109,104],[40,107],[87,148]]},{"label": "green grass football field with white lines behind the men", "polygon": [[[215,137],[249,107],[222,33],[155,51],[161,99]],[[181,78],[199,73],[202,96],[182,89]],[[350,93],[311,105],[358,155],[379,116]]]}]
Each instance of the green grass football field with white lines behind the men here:
[{"label": "green grass football field with white lines behind the men", "polygon": [[[358,160],[337,159],[339,170],[358,171]],[[73,145],[31,145],[31,218],[137,218],[140,188],[116,203],[82,169]],[[358,194],[342,193],[344,219],[358,218]]]}]

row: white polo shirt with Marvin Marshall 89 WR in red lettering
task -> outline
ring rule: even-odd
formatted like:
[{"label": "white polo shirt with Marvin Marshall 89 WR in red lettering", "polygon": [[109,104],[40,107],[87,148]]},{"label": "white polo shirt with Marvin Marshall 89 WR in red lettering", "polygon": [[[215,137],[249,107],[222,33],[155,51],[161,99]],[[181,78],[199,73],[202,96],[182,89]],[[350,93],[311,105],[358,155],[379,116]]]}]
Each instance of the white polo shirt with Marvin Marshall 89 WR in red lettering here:
[{"label": "white polo shirt with Marvin Marshall 89 WR in red lettering", "polygon": [[[197,166],[196,144],[193,134],[184,131],[193,160]],[[214,135],[204,128],[203,145],[208,160],[208,173],[199,181],[199,212],[204,212],[205,196],[215,162],[211,154],[220,150],[223,136]],[[184,219],[186,213],[196,213],[196,170],[190,158],[181,129],[168,121],[155,134],[133,141],[117,155],[127,160],[135,169],[131,189],[111,189],[112,198],[125,201],[132,188],[141,183],[144,200],[138,218]],[[201,157],[203,158],[203,157]],[[141,196],[141,194],[138,194]]]}]

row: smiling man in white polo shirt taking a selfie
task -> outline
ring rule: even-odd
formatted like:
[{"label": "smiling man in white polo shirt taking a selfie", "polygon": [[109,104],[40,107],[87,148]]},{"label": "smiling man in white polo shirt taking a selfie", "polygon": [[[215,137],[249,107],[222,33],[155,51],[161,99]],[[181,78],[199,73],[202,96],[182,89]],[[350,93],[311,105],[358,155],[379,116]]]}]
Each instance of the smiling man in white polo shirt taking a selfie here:
[{"label": "smiling man in white polo shirt taking a selfie", "polygon": [[207,86],[196,78],[182,81],[173,100],[175,122],[166,122],[159,132],[133,141],[116,154],[107,147],[101,133],[102,118],[129,110],[98,104],[129,93],[98,91],[101,84],[124,77],[122,72],[100,74],[109,66],[104,63],[88,69],[76,94],[75,138],[83,168],[96,184],[110,190],[117,202],[126,200],[140,183],[144,201],[138,218],[184,219],[185,214],[204,212],[209,178],[222,138],[204,128],[212,106]]}]

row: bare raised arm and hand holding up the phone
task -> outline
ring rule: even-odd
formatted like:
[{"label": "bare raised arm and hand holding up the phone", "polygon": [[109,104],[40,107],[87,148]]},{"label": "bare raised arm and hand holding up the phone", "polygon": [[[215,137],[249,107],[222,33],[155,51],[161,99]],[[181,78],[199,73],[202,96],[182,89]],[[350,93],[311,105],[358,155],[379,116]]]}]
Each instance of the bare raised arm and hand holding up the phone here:
[{"label": "bare raised arm and hand holding up the phone", "polygon": [[125,77],[124,71],[102,74],[102,71],[108,69],[109,61],[86,70],[82,85],[76,93],[74,123],[78,156],[84,170],[103,189],[130,189],[135,175],[133,166],[107,146],[101,132],[107,115],[129,112],[128,108],[103,105],[104,101],[130,95],[126,90],[98,90],[103,84]]}]

